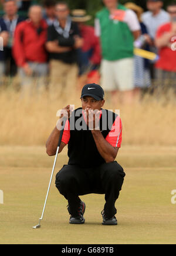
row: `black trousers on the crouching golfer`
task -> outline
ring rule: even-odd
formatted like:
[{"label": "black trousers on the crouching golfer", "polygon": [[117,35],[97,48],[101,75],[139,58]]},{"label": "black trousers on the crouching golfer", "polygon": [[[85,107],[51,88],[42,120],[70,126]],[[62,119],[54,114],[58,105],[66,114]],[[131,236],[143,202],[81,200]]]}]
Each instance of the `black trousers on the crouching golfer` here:
[{"label": "black trousers on the crouching golfer", "polygon": [[64,165],[56,175],[56,188],[69,202],[70,213],[77,216],[79,195],[105,194],[104,211],[107,218],[116,215],[115,202],[119,198],[125,173],[117,162],[96,168]]}]

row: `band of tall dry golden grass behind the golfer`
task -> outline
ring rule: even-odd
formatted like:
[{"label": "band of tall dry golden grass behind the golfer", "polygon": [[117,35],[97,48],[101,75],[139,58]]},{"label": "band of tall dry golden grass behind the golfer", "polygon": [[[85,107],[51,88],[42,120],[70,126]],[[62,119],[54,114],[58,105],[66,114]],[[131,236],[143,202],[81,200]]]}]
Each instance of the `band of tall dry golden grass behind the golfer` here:
[{"label": "band of tall dry golden grass behind the golfer", "polygon": [[[0,144],[43,145],[57,122],[57,110],[68,104],[80,107],[80,91],[67,91],[64,97],[45,92],[42,96],[22,98],[9,88],[0,91]],[[124,145],[175,145],[176,104],[173,96],[155,99],[147,96],[130,106],[105,104],[120,109]]]}]

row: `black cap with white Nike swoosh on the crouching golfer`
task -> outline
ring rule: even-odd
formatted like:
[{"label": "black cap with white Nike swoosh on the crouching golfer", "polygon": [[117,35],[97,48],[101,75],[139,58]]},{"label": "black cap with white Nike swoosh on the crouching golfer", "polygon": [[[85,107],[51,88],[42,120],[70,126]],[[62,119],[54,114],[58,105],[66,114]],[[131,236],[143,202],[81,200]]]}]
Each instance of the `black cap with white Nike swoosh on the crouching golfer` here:
[{"label": "black cap with white Nike swoosh on the crouching golfer", "polygon": [[98,84],[87,84],[82,89],[82,97],[90,96],[96,101],[102,101],[104,99],[104,91],[103,88]]}]

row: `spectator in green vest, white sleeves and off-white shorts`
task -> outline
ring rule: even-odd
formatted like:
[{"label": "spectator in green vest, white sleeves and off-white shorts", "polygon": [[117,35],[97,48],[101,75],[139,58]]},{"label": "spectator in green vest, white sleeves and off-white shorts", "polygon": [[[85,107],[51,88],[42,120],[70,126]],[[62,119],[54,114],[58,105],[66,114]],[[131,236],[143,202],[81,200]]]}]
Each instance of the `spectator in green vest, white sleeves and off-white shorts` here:
[{"label": "spectator in green vest, white sleeves and off-white shorts", "polygon": [[95,20],[103,58],[101,86],[111,93],[114,103],[128,104],[134,97],[134,41],[141,35],[141,27],[136,13],[119,1],[103,2]]}]

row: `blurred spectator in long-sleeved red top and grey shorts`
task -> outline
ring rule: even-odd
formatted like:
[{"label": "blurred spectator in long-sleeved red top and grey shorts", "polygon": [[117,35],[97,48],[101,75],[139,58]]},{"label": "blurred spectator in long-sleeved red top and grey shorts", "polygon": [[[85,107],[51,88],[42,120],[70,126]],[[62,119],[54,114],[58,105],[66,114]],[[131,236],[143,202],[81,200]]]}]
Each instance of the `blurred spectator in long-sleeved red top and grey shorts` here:
[{"label": "blurred spectator in long-sleeved red top and grey shorts", "polygon": [[13,56],[19,67],[23,91],[33,89],[34,78],[36,87],[43,90],[48,74],[48,54],[45,49],[47,28],[39,5],[33,5],[29,9],[29,19],[16,28]]}]

